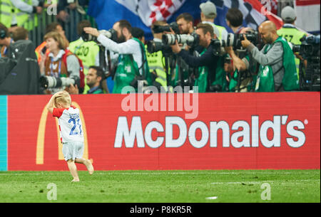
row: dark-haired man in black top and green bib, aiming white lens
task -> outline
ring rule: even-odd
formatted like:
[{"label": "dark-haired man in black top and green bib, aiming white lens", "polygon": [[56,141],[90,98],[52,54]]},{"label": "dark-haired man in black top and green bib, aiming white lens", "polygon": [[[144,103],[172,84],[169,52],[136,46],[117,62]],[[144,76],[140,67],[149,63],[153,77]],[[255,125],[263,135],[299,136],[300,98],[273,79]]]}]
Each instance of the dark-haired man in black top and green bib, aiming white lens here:
[{"label": "dark-haired man in black top and green bib, aiming white lens", "polygon": [[[178,56],[183,58],[185,63],[193,68],[198,68],[198,75],[195,75],[195,85],[198,85],[198,92],[209,91],[210,86],[213,83],[220,80],[216,76],[216,69],[219,57],[214,55],[212,38],[215,37],[213,33],[213,27],[207,23],[199,23],[196,27],[195,33],[199,36],[199,45],[204,48],[203,53],[200,56],[190,55],[188,51],[184,51],[178,46],[176,41],[172,46],[173,53],[177,53]],[[225,80],[225,76],[221,81]],[[223,83],[215,83],[216,85],[224,86]]]}]

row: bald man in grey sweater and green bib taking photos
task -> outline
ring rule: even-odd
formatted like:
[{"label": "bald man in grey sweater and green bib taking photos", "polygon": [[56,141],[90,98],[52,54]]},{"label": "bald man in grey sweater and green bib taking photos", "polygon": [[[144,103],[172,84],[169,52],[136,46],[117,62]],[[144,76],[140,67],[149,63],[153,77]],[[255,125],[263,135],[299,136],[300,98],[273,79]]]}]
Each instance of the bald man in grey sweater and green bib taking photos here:
[{"label": "bald man in grey sweater and green bib taking photos", "polygon": [[250,43],[246,36],[241,41],[250,55],[260,63],[255,84],[257,92],[290,91],[299,88],[295,56],[287,41],[277,36],[275,23],[265,21],[258,28],[265,46],[261,51]]}]

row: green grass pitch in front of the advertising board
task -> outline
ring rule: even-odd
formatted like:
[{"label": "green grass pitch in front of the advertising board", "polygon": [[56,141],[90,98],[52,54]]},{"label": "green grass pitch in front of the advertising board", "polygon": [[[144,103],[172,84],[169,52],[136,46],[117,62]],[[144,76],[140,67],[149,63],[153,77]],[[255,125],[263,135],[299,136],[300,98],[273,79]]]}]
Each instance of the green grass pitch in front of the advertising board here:
[{"label": "green grass pitch in front of the advertising board", "polygon": [[320,203],[320,169],[78,173],[0,171],[0,202]]}]

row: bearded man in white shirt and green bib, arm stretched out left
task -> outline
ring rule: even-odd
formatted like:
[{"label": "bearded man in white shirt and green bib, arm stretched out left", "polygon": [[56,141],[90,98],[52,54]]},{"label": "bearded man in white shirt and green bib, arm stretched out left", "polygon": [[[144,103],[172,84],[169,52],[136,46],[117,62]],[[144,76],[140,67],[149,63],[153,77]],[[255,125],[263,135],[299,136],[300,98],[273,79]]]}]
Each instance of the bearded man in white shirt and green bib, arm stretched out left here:
[{"label": "bearded man in white shirt and green bib, arm stretched out left", "polygon": [[141,41],[133,38],[131,28],[131,24],[126,20],[117,21],[113,24],[118,43],[99,33],[96,28],[84,28],[86,33],[96,36],[98,42],[107,50],[120,54],[121,60],[118,63],[114,78],[113,93],[121,93],[123,87],[128,85],[136,88],[137,80],[147,80],[148,84],[151,83],[145,48]]}]

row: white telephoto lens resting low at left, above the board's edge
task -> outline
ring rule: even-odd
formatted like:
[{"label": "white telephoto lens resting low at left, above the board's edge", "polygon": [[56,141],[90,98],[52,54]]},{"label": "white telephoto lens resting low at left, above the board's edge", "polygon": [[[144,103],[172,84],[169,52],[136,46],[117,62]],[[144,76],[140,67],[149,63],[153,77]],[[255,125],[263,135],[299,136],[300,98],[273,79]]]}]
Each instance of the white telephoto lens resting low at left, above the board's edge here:
[{"label": "white telephoto lens resting low at left, above the board's edge", "polygon": [[40,86],[41,88],[61,88],[68,87],[69,85],[77,85],[80,86],[80,79],[75,78],[56,78],[53,76],[43,75],[40,77]]}]

